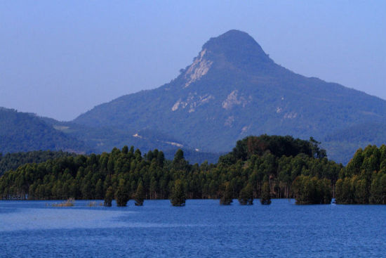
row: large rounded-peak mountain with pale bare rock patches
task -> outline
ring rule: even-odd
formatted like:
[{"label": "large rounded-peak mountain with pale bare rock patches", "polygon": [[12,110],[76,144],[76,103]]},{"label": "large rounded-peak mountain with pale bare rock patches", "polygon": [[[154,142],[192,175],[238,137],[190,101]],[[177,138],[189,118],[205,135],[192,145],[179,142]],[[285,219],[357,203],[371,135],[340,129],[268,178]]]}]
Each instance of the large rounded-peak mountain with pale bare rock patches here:
[{"label": "large rounded-peak mountain with pale bare rock patches", "polygon": [[324,146],[337,146],[340,138],[331,135],[385,121],[386,101],[287,70],[247,33],[230,30],[207,41],[168,84],[98,105],[73,122],[93,129],[157,131],[218,153],[260,134],[313,136]]}]

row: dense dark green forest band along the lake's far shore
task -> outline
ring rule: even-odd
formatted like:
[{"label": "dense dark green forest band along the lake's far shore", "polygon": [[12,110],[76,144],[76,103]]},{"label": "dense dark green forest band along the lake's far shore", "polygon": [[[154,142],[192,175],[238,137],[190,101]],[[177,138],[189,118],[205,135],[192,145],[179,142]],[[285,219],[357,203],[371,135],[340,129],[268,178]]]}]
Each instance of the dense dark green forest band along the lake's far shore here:
[{"label": "dense dark green forest band along the lake's far shore", "polygon": [[[372,154],[368,149],[374,149]],[[380,154],[374,153],[375,150]],[[385,165],[386,161],[380,162],[386,160],[381,154],[384,150],[384,146],[368,147],[362,159],[357,158],[357,153],[353,160],[365,162],[368,155],[378,155],[377,162]],[[359,162],[355,161],[355,166],[352,162],[344,168],[328,160],[325,150],[313,138],[304,141],[291,136],[248,136],[215,165],[207,162],[189,165],[182,150],[175,153],[173,160],[166,160],[162,151],[152,150],[142,155],[140,150],[125,146],[101,155],[58,157],[22,165],[1,176],[0,196],[50,200],[105,199],[107,195],[111,199],[112,195],[115,198],[119,195],[124,200],[137,198],[140,205],[143,199],[178,200],[181,196],[218,198],[224,202],[238,198],[245,204],[251,204],[253,198],[270,202],[270,198],[294,197],[298,204],[324,204],[331,202],[336,183],[337,202],[341,203],[340,182],[357,173],[352,169]],[[385,203],[385,176],[379,176],[385,172],[378,171],[379,167],[382,165],[371,167],[377,171],[372,172],[377,183],[368,183],[367,189],[373,187],[383,199],[371,199],[373,195],[368,195],[372,203]],[[176,188],[179,193],[175,193]]]}]

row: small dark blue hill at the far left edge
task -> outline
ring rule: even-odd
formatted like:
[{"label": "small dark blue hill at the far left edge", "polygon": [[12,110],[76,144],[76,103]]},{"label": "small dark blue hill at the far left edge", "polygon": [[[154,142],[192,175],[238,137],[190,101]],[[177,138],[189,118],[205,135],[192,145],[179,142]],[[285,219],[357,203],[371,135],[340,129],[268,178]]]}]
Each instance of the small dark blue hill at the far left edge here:
[{"label": "small dark blue hill at the far left edge", "polygon": [[0,153],[29,150],[84,152],[85,143],[56,130],[36,115],[0,108]]}]

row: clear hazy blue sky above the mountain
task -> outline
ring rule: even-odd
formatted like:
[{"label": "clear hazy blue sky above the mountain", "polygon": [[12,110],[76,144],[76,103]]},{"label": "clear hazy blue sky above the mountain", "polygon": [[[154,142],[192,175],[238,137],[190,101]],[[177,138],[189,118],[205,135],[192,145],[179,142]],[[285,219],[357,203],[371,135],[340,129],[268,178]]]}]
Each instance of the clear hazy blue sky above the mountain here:
[{"label": "clear hazy blue sky above the mountain", "polygon": [[0,106],[72,120],[248,32],[280,65],[386,99],[386,1],[0,1]]}]

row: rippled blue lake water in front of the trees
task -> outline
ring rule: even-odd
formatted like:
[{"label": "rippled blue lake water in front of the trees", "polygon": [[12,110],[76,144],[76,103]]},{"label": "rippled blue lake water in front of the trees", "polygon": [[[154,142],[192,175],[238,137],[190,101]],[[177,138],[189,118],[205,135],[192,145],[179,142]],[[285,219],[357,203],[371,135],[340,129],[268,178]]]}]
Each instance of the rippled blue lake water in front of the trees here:
[{"label": "rippled blue lake water in front of the trees", "polygon": [[385,205],[53,203],[0,201],[1,257],[386,257]]}]

